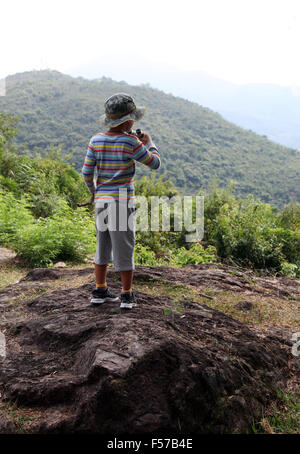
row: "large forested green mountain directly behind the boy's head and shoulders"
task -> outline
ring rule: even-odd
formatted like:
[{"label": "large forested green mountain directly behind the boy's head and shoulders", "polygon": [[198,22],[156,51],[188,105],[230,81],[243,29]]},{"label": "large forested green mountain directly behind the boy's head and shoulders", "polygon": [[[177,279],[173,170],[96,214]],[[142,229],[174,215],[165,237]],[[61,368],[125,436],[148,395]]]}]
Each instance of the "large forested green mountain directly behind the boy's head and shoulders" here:
[{"label": "large forested green mountain directly behind the boy's head and shoulders", "polygon": [[[161,150],[165,173],[184,194],[206,190],[214,175],[220,186],[236,181],[236,193],[249,193],[278,207],[300,201],[300,153],[224,120],[196,103],[148,85],[131,86],[109,78],[86,80],[57,71],[9,76],[0,111],[20,117],[17,145],[44,154],[50,145],[73,152],[80,170],[89,138],[100,130],[103,103],[115,92],[133,95],[147,106],[138,123]],[[138,176],[150,173],[139,166]]]}]

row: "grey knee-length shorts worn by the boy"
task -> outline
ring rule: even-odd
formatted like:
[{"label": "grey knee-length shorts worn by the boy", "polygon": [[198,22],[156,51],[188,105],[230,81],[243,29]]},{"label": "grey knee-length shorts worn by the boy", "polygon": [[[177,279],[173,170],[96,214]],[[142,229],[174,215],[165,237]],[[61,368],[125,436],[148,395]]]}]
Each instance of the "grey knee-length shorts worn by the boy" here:
[{"label": "grey knee-length shorts worn by the boy", "polygon": [[94,263],[114,263],[116,271],[134,270],[136,208],[109,202],[95,207],[97,249]]}]

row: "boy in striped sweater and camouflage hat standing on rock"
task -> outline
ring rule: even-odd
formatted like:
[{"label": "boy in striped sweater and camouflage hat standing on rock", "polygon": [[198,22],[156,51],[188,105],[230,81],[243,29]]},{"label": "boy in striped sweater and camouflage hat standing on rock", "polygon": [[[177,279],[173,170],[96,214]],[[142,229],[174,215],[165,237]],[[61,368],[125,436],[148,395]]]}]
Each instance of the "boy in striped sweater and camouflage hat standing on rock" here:
[{"label": "boy in striped sweater and camouflage hat standing on rock", "polygon": [[[104,104],[105,114],[100,124],[106,129],[90,140],[82,175],[95,201],[97,230],[97,250],[95,255],[96,289],[91,302],[102,304],[118,301],[107,287],[108,263],[114,262],[122,280],[121,308],[136,306],[132,291],[134,270],[134,174],[135,161],[158,169],[159,152],[149,134],[143,133],[141,140],[131,134],[135,121],[140,120],[144,107],[137,107],[133,98],[125,93],[117,93]],[[96,167],[96,187],[94,170]],[[133,222],[130,224],[130,218]],[[114,222],[115,225],[114,225]],[[120,227],[120,223],[126,230]]]}]

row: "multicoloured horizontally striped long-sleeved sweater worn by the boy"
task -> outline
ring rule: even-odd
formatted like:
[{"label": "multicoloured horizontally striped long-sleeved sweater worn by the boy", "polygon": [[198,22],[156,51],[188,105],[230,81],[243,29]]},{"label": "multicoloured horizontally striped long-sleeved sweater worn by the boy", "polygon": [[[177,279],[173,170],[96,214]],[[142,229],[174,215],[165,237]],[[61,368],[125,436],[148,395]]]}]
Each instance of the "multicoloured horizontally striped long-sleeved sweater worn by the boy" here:
[{"label": "multicoloured horizontally striped long-sleeved sweater worn by the boy", "polygon": [[82,175],[95,202],[134,198],[135,161],[151,169],[160,166],[155,145],[147,146],[127,133],[98,133],[91,138]]}]

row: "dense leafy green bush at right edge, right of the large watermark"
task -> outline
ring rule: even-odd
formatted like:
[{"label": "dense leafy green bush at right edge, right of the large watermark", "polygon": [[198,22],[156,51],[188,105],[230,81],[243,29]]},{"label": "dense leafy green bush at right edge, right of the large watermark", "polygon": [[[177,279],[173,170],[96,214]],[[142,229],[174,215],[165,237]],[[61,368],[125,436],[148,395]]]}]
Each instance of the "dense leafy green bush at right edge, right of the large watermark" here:
[{"label": "dense leafy green bush at right edge, right of the large watermark", "polygon": [[294,204],[293,211],[286,208],[276,214],[275,208],[252,195],[236,199],[232,185],[219,189],[214,184],[205,199],[204,244],[214,245],[218,256],[234,259],[242,266],[272,268],[298,276],[300,229],[295,213],[299,207]]}]

